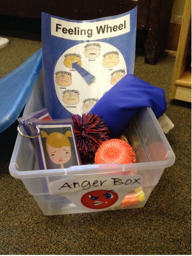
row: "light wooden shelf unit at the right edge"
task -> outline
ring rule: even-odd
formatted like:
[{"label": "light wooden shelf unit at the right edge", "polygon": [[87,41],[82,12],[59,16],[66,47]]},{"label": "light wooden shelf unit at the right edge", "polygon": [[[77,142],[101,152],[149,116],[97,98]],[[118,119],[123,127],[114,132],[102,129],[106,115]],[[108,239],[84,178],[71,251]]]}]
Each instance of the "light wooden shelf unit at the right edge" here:
[{"label": "light wooden shelf unit at the right edge", "polygon": [[169,93],[170,99],[191,102],[191,0],[186,0],[183,22],[180,31],[173,78]]}]

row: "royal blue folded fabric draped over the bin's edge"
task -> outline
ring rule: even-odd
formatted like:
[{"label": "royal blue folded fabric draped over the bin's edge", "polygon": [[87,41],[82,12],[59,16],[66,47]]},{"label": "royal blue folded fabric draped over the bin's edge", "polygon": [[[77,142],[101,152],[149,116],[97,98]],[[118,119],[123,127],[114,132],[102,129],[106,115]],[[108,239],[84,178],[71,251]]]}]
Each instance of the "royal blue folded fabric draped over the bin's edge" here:
[{"label": "royal blue folded fabric draped over the bin's edge", "polygon": [[111,137],[121,135],[131,118],[143,107],[151,107],[158,119],[166,110],[162,88],[126,74],[93,106],[89,113],[98,114],[109,127]]}]

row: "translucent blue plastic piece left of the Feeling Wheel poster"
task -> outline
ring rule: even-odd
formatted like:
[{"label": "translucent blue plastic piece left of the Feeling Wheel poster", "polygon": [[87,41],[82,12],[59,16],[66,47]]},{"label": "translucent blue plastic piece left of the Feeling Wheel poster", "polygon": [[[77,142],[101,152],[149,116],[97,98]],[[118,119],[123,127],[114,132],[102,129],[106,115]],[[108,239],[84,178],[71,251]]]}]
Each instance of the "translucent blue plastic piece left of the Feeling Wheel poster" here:
[{"label": "translucent blue plastic piece left of the Feeling Wheel poster", "polygon": [[42,49],[0,79],[0,132],[18,118],[42,68]]}]

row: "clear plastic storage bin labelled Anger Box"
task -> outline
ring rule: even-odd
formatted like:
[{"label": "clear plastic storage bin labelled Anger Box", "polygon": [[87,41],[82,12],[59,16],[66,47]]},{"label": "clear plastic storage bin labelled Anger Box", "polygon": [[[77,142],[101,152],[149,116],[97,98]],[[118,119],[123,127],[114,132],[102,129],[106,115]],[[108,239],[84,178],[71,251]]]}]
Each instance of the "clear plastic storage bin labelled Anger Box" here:
[{"label": "clear plastic storage bin labelled Anger Box", "polygon": [[[23,115],[43,108],[41,73]],[[49,170],[39,170],[30,139],[18,134],[9,172],[22,180],[45,215],[143,207],[175,155],[151,108],[141,109],[124,134],[136,153],[134,164]]]}]

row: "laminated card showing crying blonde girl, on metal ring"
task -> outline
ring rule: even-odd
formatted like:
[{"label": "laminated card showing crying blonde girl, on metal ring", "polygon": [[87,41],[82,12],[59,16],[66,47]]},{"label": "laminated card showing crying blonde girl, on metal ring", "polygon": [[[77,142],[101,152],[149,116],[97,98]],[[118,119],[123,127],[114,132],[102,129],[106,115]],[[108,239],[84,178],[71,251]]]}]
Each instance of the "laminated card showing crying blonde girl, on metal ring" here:
[{"label": "laminated card showing crying blonde girl, on metal ring", "polygon": [[30,122],[34,133],[36,126],[40,130],[34,139],[40,169],[69,168],[81,164],[71,119],[30,119]]}]

